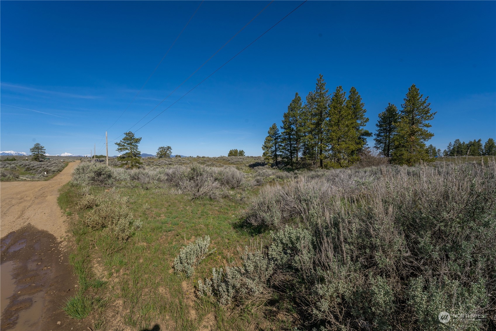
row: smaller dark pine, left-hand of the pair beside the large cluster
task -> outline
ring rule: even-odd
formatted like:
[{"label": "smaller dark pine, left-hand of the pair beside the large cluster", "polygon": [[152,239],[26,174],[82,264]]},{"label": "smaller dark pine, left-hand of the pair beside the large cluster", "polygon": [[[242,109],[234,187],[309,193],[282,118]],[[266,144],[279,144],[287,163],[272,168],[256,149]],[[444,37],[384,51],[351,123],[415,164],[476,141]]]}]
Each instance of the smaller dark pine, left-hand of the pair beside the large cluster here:
[{"label": "smaller dark pine, left-hand of the pair beside the large cluster", "polygon": [[393,137],[396,134],[396,122],[399,121],[398,108],[389,103],[386,109],[379,114],[379,120],[375,124],[377,127],[375,133],[374,147],[381,151],[386,158],[391,156],[393,149]]}]

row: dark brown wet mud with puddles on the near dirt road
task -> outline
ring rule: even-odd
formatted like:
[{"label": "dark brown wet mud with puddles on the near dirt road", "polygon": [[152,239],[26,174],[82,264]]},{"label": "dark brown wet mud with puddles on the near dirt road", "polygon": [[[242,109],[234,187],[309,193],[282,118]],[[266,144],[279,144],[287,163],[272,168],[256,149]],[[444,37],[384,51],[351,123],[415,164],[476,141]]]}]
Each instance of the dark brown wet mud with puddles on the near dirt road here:
[{"label": "dark brown wet mud with puddles on the near dirt road", "polygon": [[0,275],[2,331],[86,330],[62,310],[77,279],[49,232],[27,225],[2,238]]}]

